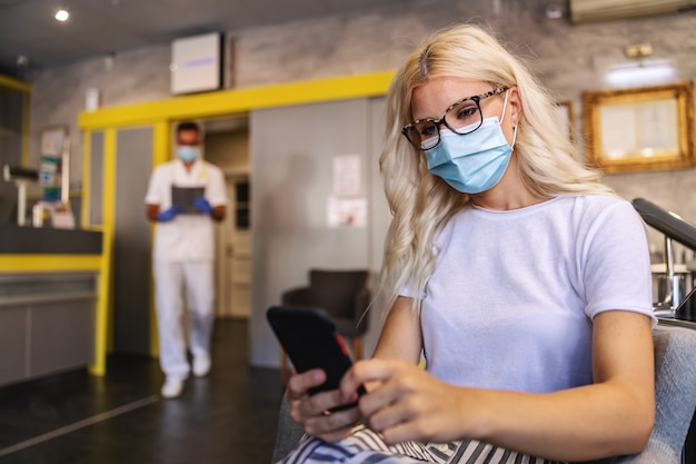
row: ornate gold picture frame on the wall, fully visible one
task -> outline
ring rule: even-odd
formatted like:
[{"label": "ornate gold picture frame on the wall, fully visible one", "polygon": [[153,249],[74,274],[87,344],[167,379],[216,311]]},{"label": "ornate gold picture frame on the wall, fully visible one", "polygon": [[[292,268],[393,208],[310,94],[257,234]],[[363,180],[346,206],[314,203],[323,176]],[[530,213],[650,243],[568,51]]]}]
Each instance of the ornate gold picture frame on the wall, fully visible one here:
[{"label": "ornate gold picture frame on the wall, fully visible one", "polygon": [[583,93],[586,161],[605,172],[696,165],[694,83]]}]

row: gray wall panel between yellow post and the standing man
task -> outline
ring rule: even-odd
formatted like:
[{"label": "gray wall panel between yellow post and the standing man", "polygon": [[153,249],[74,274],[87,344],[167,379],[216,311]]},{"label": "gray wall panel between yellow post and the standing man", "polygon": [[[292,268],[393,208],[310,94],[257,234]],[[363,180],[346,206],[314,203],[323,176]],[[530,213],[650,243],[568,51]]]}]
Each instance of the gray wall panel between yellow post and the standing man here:
[{"label": "gray wall panel between yellow post and the standing man", "polygon": [[145,195],[152,129],[117,134],[113,243],[113,343],[119,353],[150,353],[150,224]]}]

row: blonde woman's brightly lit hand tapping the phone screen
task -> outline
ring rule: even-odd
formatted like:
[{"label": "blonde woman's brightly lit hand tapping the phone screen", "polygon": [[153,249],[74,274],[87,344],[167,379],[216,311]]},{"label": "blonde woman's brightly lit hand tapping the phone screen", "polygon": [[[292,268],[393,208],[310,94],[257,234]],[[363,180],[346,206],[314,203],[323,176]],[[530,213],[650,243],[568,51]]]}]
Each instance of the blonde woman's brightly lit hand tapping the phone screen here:
[{"label": "blonde woman's brightly lit hand tapping the phone screen", "polygon": [[[388,444],[407,440],[447,442],[466,434],[471,405],[465,391],[446,384],[401,359],[357,362],[341,382],[345,393],[377,382],[359,402],[367,426]],[[467,421],[467,417],[469,419]]]}]

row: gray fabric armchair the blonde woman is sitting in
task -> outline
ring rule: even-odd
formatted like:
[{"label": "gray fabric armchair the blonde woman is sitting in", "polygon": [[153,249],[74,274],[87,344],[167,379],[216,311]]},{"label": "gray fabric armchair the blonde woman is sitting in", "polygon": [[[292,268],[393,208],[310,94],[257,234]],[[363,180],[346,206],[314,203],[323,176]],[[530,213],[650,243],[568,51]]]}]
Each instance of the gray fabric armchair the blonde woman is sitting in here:
[{"label": "gray fabric armchair the blonde woman is sitting in", "polygon": [[[679,464],[682,450],[696,407],[696,330],[657,326],[655,340],[655,427],[645,450],[622,456],[617,464]],[[274,463],[284,458],[302,435],[282,401]],[[690,463],[686,463],[690,464]]]}]

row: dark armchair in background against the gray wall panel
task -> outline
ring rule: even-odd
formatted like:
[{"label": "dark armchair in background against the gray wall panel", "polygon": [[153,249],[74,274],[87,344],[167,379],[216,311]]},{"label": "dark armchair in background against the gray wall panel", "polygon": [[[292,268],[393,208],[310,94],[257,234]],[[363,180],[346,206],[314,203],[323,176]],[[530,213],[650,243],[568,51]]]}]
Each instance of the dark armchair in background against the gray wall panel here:
[{"label": "dark armchair in background against the gray wall panel", "polygon": [[[367,270],[310,269],[309,285],[286,290],[281,295],[284,306],[311,306],[331,315],[338,334],[350,339],[354,359],[362,358],[362,336],[368,328],[365,315],[370,304]],[[365,317],[362,317],[365,316]],[[280,352],[280,382],[286,384],[288,358]]]}]

